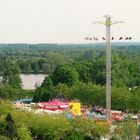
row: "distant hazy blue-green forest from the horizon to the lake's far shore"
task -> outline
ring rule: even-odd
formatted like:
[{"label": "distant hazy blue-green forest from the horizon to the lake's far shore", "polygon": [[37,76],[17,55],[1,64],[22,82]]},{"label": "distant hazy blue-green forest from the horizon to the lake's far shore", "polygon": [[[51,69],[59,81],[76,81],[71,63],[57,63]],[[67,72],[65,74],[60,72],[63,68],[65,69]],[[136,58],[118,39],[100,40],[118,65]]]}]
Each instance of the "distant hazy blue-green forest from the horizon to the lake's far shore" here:
[{"label": "distant hazy blue-green forest from the horizon to the lake's far shore", "polygon": [[[138,63],[140,44],[113,44],[112,52]],[[0,44],[0,75],[3,64],[12,61],[25,74],[51,74],[61,64],[95,61],[104,55],[105,44]],[[139,65],[139,63],[138,63]]]}]

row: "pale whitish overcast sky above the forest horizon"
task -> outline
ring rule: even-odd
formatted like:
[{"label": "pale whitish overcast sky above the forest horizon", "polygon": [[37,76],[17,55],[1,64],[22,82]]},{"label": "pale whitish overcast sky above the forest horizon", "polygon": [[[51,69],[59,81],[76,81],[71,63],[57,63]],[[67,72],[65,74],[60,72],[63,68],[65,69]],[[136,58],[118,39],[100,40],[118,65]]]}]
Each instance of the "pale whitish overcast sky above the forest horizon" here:
[{"label": "pale whitish overcast sky above the forest horizon", "polygon": [[124,21],[111,27],[115,41],[140,41],[139,5],[140,0],[0,0],[0,43],[88,43],[85,37],[105,35],[105,27],[93,22],[106,14]]}]

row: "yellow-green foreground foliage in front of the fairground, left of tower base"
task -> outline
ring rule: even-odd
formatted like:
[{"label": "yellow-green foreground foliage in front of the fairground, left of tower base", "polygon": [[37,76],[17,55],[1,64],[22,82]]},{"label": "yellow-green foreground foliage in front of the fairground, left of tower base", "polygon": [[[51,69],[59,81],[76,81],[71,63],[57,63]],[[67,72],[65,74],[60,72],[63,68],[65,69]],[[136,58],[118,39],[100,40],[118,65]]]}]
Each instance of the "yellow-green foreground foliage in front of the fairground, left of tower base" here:
[{"label": "yellow-green foreground foliage in front of the fairground, left of tower base", "polygon": [[96,124],[88,118],[67,120],[61,115],[36,115],[25,112],[13,112],[13,116],[16,124],[24,123],[37,139],[96,140],[109,133],[107,125]]}]

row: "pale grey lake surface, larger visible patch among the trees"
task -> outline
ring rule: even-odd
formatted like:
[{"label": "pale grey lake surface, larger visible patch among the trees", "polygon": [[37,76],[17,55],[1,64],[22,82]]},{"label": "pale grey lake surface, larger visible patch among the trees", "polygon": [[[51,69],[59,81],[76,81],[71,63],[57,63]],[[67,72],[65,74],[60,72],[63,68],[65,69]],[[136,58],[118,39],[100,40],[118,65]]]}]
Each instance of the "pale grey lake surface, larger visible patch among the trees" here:
[{"label": "pale grey lake surface, larger visible patch among the trees", "polygon": [[23,89],[35,89],[35,85],[40,85],[46,76],[45,74],[21,74]]}]

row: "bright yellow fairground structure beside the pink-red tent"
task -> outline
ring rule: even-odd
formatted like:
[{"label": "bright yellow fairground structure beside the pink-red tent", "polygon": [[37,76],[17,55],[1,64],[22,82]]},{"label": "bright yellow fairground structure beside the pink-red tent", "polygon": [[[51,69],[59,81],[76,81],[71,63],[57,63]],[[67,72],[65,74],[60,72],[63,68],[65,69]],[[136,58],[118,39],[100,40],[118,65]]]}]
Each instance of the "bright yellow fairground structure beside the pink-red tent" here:
[{"label": "bright yellow fairground structure beside the pink-red tent", "polygon": [[73,115],[75,116],[81,115],[81,103],[79,101],[69,102],[68,106],[69,106],[70,112]]}]

